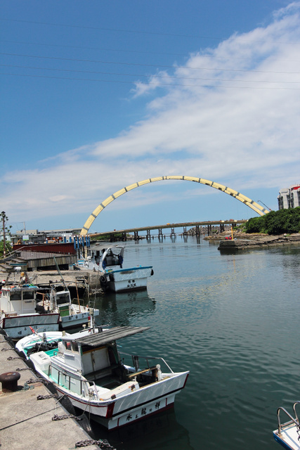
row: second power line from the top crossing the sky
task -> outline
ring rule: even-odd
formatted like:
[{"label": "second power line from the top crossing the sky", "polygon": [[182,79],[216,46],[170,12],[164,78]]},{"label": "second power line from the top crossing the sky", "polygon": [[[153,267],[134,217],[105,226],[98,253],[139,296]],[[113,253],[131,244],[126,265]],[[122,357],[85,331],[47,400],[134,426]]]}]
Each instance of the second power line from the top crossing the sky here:
[{"label": "second power line from the top crossing the sky", "polygon": [[119,65],[137,65],[141,67],[149,68],[168,68],[168,69],[189,69],[189,70],[217,70],[223,72],[251,72],[251,73],[276,73],[283,75],[296,75],[300,72],[276,72],[272,70],[247,70],[247,69],[224,69],[224,68],[192,68],[188,66],[174,66],[174,65],[162,65],[162,64],[143,64],[143,63],[120,63],[115,61],[105,61],[105,60],[89,60],[89,59],[79,59],[79,58],[58,58],[57,56],[36,56],[36,55],[25,55],[22,53],[0,53],[0,55],[5,56],[22,56],[25,58],[38,58],[38,59],[48,59],[48,60],[59,60],[59,61],[72,61],[77,63],[101,63],[101,64],[119,64]]}]

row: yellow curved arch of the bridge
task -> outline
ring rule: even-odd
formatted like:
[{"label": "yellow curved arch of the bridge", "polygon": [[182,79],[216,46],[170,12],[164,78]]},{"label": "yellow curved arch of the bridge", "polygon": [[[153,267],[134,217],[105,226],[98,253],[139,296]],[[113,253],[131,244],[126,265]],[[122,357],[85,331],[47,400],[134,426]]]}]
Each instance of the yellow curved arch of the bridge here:
[{"label": "yellow curved arch of the bridge", "polygon": [[91,224],[93,224],[93,221],[96,219],[96,217],[98,217],[98,214],[100,214],[100,212],[103,211],[107,205],[112,203],[112,201],[118,198],[120,195],[123,195],[124,193],[129,192],[134,188],[138,188],[139,186],[143,186],[144,184],[154,183],[155,181],[162,181],[162,180],[184,180],[184,181],[195,181],[195,183],[200,184],[206,184],[207,186],[211,186],[211,188],[219,189],[219,191],[223,191],[224,193],[231,195],[237,200],[240,200],[240,202],[244,203],[244,205],[247,205],[249,208],[254,210],[260,216],[263,216],[264,214],[268,213],[268,210],[263,208],[258,203],[255,203],[253,200],[251,200],[251,198],[248,198],[246,197],[246,195],[243,195],[240,192],[228,188],[228,186],[223,186],[223,184],[216,183],[215,181],[209,181],[204,178],[197,178],[195,176],[183,176],[183,175],[157,176],[155,178],[148,178],[143,181],[137,181],[136,183],[130,184],[129,186],[126,186],[126,188],[122,188],[119,191],[110,195],[109,197],[105,198],[105,200],[102,203],[100,203],[98,207],[96,207],[96,210],[93,210],[89,218],[86,220],[86,223],[84,224],[80,232],[81,236],[86,236],[86,234],[89,233]]}]

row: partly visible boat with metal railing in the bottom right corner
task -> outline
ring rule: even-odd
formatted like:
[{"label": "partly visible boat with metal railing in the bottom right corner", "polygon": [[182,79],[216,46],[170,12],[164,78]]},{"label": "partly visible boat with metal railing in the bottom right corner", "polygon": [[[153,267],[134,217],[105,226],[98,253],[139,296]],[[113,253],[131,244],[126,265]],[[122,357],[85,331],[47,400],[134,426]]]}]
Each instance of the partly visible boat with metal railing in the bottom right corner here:
[{"label": "partly visible boat with metal railing in the bottom right corner", "polygon": [[[296,405],[300,401],[295,401],[293,405],[294,416],[292,416],[285,408],[278,408],[278,429],[273,431],[273,436],[276,442],[279,442],[287,450],[300,450],[300,422],[296,413]],[[280,414],[284,413],[287,416],[287,422],[281,423]]]}]

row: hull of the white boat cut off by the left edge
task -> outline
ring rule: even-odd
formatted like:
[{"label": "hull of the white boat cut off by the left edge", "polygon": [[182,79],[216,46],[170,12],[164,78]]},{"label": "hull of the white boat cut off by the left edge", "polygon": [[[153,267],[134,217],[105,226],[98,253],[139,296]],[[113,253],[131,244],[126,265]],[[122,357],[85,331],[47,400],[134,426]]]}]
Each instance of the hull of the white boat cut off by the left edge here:
[{"label": "hull of the white boat cut off by the left edge", "polygon": [[12,339],[21,339],[32,334],[32,328],[39,333],[58,331],[60,315],[51,314],[22,314],[19,316],[1,317],[0,327]]}]

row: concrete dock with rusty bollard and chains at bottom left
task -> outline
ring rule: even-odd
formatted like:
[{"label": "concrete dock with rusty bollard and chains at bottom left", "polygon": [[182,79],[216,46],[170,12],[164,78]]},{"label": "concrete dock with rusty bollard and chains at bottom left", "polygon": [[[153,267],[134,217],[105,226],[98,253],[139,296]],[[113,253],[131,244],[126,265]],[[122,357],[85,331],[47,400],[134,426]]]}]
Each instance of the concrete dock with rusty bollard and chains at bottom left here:
[{"label": "concrete dock with rusty bollard and chains at bottom left", "polygon": [[[4,392],[4,383],[0,383],[1,450],[72,450],[82,441],[93,440],[74,418],[53,420],[54,416],[68,416],[68,411],[56,398],[37,399],[51,392],[0,334],[0,374],[14,372],[20,373],[15,392]],[[88,444],[84,448],[112,447]]]}]

